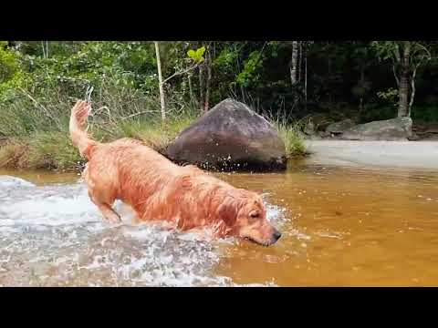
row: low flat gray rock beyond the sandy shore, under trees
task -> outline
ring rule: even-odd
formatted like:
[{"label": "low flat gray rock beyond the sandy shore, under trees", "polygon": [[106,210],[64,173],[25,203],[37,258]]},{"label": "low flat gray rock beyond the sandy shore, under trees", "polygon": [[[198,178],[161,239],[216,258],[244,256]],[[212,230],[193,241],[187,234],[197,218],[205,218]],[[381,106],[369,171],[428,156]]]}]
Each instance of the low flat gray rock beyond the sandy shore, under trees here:
[{"label": "low flat gray rock beyond the sandy shore, under trees", "polygon": [[345,140],[407,140],[412,137],[411,118],[391,118],[360,124],[345,130],[341,137]]}]

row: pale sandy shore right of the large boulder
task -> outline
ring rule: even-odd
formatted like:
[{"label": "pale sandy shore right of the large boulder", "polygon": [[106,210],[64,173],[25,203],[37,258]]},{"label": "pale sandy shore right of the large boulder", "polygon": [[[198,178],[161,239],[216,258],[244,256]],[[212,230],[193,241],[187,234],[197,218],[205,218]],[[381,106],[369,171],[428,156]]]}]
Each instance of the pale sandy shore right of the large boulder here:
[{"label": "pale sandy shore right of the large boulder", "polygon": [[308,161],[322,165],[437,169],[438,141],[307,140]]}]

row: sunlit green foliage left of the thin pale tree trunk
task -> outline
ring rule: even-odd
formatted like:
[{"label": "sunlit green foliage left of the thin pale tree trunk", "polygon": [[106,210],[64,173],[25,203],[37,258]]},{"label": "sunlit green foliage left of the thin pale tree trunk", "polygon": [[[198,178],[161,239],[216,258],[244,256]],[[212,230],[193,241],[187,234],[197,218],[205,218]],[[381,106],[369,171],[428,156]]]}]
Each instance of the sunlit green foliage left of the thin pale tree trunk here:
[{"label": "sunlit green foliage left of the thin pale tree trunk", "polygon": [[22,70],[13,80],[15,85],[8,87],[25,86],[32,93],[41,91],[41,96],[52,88],[76,97],[107,79],[117,87],[156,88],[155,58],[149,43],[92,41],[78,43],[75,50],[49,57],[21,54]]}]

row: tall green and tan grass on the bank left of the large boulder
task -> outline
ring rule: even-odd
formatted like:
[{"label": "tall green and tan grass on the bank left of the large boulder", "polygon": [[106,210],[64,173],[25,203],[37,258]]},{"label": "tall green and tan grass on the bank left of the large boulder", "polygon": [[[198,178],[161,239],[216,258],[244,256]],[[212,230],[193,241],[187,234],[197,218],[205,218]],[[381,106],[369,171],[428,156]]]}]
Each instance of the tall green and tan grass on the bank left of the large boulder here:
[{"label": "tall green and tan grass on the bank left of the large boulder", "polygon": [[[57,90],[42,97],[17,90],[0,104],[0,167],[77,169],[83,164],[68,135],[70,109],[77,99]],[[160,101],[128,88],[104,88],[91,100],[89,133],[99,141],[137,138],[163,152],[169,142],[196,118],[182,100],[170,98],[162,125]]]}]

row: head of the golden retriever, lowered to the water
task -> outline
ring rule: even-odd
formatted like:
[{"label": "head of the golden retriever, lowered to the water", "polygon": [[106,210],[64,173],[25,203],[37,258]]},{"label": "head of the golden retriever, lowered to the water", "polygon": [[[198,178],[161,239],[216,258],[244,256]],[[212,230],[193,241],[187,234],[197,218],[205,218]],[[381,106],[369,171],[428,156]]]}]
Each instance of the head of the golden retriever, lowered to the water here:
[{"label": "head of the golden retriever, lowered to the water", "polygon": [[266,207],[260,196],[246,190],[233,196],[219,207],[229,234],[264,246],[276,243],[281,233],[266,219]]}]

